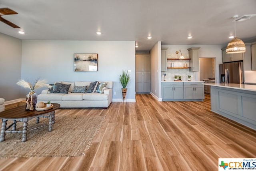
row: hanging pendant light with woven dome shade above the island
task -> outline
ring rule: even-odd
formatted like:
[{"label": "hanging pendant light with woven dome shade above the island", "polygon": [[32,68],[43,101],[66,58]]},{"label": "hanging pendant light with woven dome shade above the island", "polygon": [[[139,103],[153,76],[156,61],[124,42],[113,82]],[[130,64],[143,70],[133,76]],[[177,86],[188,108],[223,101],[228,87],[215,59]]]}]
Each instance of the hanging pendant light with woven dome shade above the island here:
[{"label": "hanging pendant light with woven dome shade above the island", "polygon": [[244,42],[236,37],[236,17],[234,16],[235,22],[235,37],[228,43],[226,48],[226,54],[236,54],[236,53],[244,53],[245,52],[245,44]]}]

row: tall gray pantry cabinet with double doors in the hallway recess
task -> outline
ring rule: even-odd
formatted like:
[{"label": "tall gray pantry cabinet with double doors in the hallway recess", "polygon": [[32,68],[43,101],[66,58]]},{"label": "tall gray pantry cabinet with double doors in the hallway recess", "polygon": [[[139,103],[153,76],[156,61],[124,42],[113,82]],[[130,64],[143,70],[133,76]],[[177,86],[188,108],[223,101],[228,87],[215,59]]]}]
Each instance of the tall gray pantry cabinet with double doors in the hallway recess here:
[{"label": "tall gray pantry cabinet with double doors in the hallway recess", "polygon": [[150,54],[136,54],[136,93],[150,93]]}]

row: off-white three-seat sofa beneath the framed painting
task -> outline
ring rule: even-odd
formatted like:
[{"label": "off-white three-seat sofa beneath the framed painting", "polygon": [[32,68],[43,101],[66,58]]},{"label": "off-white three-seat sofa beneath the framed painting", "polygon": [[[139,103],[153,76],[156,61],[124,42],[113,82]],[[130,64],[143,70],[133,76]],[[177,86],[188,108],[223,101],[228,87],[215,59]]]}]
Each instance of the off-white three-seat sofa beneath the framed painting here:
[{"label": "off-white three-seat sofa beneath the framed painting", "polygon": [[91,82],[59,82],[62,84],[71,84],[68,93],[50,93],[49,89],[42,90],[42,93],[38,95],[37,101],[51,101],[52,103],[60,104],[60,107],[103,107],[107,108],[112,101],[112,81],[107,82],[106,89],[103,93],[72,93],[74,86],[89,87]]}]

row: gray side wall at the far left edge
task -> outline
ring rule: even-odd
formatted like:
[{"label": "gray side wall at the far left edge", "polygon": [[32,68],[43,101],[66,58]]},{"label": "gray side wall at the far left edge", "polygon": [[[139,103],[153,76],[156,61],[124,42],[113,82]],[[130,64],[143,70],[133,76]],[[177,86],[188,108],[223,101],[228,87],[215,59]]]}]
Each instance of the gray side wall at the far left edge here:
[{"label": "gray side wall at the far left edge", "polygon": [[0,33],[0,97],[20,98],[22,40]]}]

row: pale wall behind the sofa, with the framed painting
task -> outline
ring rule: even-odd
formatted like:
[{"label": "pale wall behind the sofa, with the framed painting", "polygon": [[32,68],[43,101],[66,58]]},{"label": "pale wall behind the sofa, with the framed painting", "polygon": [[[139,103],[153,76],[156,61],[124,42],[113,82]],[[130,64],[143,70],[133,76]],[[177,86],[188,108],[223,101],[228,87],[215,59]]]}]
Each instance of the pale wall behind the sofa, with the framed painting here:
[{"label": "pale wall behind the sofa, with the framed painting", "polygon": [[[74,54],[98,54],[98,71],[74,72]],[[105,81],[114,82],[113,101],[121,101],[122,70],[131,70],[127,101],[135,101],[135,42],[134,41],[43,41],[22,42],[21,78],[42,78],[55,81]],[[44,88],[45,89],[45,88]],[[36,90],[41,93],[42,89]],[[114,95],[114,91],[116,95]],[[28,93],[21,92],[22,97]]]}]

